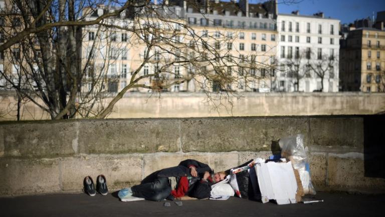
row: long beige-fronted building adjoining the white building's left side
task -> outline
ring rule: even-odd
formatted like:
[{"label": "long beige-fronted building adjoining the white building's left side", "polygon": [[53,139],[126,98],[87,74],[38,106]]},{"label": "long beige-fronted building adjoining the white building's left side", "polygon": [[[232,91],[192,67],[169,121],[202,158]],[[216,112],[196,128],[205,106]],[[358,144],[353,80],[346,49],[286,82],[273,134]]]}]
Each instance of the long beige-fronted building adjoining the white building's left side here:
[{"label": "long beige-fronted building adjoining the white building's left side", "polygon": [[[142,79],[141,84],[154,86],[160,80],[161,85],[166,86],[162,91],[271,91],[276,78],[278,33],[274,20],[275,7],[274,1],[265,4],[249,4],[248,1],[237,4],[203,1],[195,3],[194,7],[188,1],[169,1],[167,11],[170,14],[167,16],[174,18],[175,23],[160,20],[149,22],[147,18],[133,18],[129,12],[124,12],[110,21],[121,28],[85,27],[83,64],[88,64],[89,70],[83,88],[93,88],[96,85],[109,92],[121,91],[130,83],[133,73],[140,68],[135,76],[148,76]],[[101,6],[92,13],[87,12],[86,19],[93,20],[113,10],[115,9],[112,7]],[[183,28],[180,24],[186,24],[188,28]],[[146,25],[157,26],[159,31],[138,35],[125,30],[135,26],[138,28],[138,25],[141,28]],[[195,33],[194,39],[189,31]],[[149,49],[143,39],[151,40],[156,37],[164,37],[171,43],[166,45],[167,48],[154,46]],[[174,45],[170,46],[172,42]],[[178,63],[183,62],[179,58],[190,61],[204,55],[215,59],[210,57],[212,51],[223,58],[216,59],[216,63],[204,62],[194,66]],[[147,52],[149,59],[144,61]],[[219,71],[216,66],[221,68],[221,73],[223,71],[231,75],[232,79],[216,81],[215,75],[210,79],[205,76],[188,79],[196,70],[200,70],[202,74],[210,74],[210,71],[215,71],[216,74]],[[160,73],[159,78],[150,76],[157,71],[166,73]],[[105,78],[102,83],[92,82],[94,73]],[[168,85],[178,78],[183,78],[186,82]],[[151,90],[134,87],[128,91]]]}]

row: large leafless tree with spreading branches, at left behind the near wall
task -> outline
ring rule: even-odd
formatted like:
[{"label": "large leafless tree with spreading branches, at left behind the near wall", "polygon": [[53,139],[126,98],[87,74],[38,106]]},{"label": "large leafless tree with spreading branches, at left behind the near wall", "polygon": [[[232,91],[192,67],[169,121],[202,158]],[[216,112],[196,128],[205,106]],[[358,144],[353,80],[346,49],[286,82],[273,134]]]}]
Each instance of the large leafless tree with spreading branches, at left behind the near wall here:
[{"label": "large leafless tree with spreading branches, at left behind the near wall", "polygon": [[[105,118],[128,90],[161,92],[187,83],[214,101],[213,94],[236,94],[234,85],[268,77],[256,73],[271,71],[268,61],[228,49],[237,33],[198,32],[168,1],[156,2],[6,1],[0,73],[21,101],[35,103],[51,119]],[[117,71],[126,49],[131,65]],[[122,77],[127,83],[105,101]]]}]

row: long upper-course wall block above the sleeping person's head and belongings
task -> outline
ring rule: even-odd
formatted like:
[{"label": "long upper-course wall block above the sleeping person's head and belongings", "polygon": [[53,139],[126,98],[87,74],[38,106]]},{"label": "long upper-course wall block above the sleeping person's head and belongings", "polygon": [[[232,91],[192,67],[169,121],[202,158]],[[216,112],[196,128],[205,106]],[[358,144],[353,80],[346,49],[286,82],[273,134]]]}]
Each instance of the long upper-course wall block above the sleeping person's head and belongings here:
[{"label": "long upper-course wall block above the sleeping person's head and belongings", "polygon": [[302,117],[184,119],[180,125],[183,152],[270,151],[280,138],[308,134]]}]

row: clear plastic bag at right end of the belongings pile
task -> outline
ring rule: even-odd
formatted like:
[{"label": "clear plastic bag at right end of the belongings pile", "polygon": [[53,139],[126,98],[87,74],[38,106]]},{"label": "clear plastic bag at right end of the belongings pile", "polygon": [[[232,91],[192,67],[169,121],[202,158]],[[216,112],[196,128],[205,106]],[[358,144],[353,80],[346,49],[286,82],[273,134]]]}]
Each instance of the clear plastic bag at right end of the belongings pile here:
[{"label": "clear plastic bag at right end of the belongings pile", "polygon": [[316,194],[310,178],[310,167],[303,145],[303,135],[286,137],[279,140],[281,156],[291,161],[293,168],[297,169],[305,194]]}]

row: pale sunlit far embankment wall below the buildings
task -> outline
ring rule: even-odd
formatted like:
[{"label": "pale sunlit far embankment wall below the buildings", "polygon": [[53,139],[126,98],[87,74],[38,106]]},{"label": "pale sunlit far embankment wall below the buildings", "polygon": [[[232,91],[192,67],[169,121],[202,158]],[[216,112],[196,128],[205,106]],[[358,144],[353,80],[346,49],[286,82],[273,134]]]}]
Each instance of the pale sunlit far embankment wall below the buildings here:
[{"label": "pale sunlit far embankment wall below the buildings", "polygon": [[[229,93],[230,94],[230,93]],[[245,116],[372,115],[385,112],[385,93],[126,93],[108,118],[190,118]],[[106,98],[105,103],[111,98]],[[39,100],[38,100],[39,101]],[[0,121],[16,120],[16,96],[0,92]],[[231,103],[230,103],[231,102]],[[22,120],[50,119],[33,103],[23,106]]]}]

